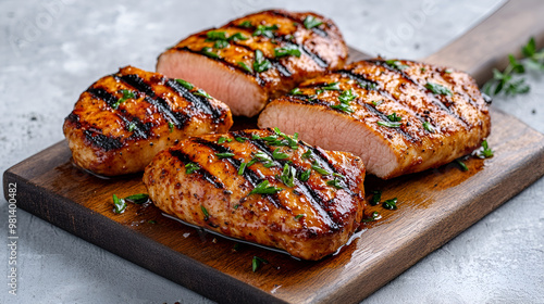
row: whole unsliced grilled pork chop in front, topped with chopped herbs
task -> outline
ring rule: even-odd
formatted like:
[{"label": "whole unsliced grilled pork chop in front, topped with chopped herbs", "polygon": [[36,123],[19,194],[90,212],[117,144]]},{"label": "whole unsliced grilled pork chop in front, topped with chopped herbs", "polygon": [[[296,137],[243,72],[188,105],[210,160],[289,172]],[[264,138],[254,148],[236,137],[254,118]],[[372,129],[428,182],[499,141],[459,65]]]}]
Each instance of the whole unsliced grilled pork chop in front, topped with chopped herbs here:
[{"label": "whole unsliced grilled pork chop in front, topped with chopped herbs", "polygon": [[359,157],[277,129],[191,137],[144,174],[163,212],[305,259],[334,253],[359,227],[363,179]]}]

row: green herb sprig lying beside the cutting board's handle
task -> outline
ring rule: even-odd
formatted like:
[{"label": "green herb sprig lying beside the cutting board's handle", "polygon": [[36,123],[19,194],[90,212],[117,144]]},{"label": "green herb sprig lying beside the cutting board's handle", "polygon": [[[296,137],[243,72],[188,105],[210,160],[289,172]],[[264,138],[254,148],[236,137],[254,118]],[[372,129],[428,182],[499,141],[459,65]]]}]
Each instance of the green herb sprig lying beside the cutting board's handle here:
[{"label": "green herb sprig lying beside the cutting board's handle", "polygon": [[524,74],[526,68],[544,71],[544,50],[536,51],[536,42],[531,37],[529,42],[521,48],[524,59],[516,59],[508,54],[508,65],[500,72],[493,68],[493,79],[485,83],[482,90],[489,96],[497,96],[504,92],[506,96],[528,93],[531,87],[526,84],[526,78],[514,79],[515,74]]}]

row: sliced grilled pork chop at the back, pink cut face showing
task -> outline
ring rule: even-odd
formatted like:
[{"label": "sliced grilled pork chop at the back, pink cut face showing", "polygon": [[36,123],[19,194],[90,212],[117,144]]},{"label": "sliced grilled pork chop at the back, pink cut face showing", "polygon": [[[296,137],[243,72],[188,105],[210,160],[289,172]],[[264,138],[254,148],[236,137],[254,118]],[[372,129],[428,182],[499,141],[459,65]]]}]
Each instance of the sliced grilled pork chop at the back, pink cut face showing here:
[{"label": "sliced grilled pork chop at the back, pink cut face showing", "polygon": [[187,79],[225,102],[234,115],[251,117],[269,98],[342,67],[346,58],[346,43],[332,21],[272,10],[189,36],[159,56],[157,72]]}]

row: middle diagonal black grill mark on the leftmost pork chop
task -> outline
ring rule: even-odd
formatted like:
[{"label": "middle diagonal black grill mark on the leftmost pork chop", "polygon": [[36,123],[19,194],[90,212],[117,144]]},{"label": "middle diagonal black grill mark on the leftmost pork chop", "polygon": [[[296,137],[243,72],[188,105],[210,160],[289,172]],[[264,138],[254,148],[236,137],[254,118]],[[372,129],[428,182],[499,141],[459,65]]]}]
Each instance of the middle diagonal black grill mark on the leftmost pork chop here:
[{"label": "middle diagonal black grill mark on the leftmost pork chop", "polygon": [[185,124],[193,117],[190,113],[184,114],[181,112],[174,112],[170,104],[161,97],[156,96],[151,86],[146,84],[143,78],[136,74],[118,76],[113,75],[118,80],[123,81],[125,85],[133,87],[140,93],[145,93],[144,100],[157,107],[162,117],[174,124],[178,129],[183,129]]}]

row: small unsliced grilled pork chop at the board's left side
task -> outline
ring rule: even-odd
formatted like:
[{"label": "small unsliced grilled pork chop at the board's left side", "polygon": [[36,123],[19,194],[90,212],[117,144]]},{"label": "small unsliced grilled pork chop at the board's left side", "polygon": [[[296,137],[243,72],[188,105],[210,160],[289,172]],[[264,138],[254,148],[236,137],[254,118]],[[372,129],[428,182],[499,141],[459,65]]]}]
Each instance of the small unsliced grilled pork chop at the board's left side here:
[{"label": "small unsliced grilled pork chop at the board's left side", "polygon": [[232,124],[228,107],[203,90],[126,66],[82,93],[63,130],[75,164],[112,176],[144,170],[180,139]]}]

